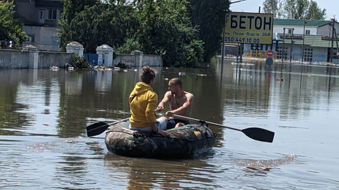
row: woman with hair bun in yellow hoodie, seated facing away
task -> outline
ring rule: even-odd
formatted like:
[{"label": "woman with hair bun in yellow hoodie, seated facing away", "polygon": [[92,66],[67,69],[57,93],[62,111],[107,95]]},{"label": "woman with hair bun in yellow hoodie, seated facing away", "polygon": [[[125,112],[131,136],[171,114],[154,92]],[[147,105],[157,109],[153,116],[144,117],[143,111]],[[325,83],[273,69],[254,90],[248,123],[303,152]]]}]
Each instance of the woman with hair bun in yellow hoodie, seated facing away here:
[{"label": "woman with hair bun in yellow hoodie, seated facing away", "polygon": [[155,109],[157,108],[158,95],[153,91],[155,81],[154,70],[148,66],[142,67],[141,81],[137,82],[129,97],[131,117],[131,130],[154,132],[164,134],[167,118],[157,119]]}]

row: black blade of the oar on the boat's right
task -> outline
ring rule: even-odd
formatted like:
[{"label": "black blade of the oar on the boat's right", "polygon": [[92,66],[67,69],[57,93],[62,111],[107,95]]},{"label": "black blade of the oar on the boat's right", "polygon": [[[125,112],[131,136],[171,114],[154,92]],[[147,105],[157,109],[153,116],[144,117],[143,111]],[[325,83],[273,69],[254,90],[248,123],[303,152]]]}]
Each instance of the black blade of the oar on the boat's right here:
[{"label": "black blade of the oar on the boat's right", "polygon": [[262,141],[262,142],[273,142],[274,132],[268,131],[266,129],[261,129],[257,127],[251,127],[241,130],[246,136]]}]

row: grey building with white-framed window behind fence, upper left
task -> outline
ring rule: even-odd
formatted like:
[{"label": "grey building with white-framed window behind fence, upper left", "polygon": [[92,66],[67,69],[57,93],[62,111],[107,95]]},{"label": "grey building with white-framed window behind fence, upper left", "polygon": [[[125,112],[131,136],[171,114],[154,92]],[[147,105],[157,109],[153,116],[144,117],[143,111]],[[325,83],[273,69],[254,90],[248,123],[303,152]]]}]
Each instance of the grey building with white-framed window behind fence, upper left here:
[{"label": "grey building with white-framed window behind fence, upper left", "polygon": [[29,36],[25,44],[42,51],[59,51],[58,21],[63,12],[60,0],[15,0],[16,15]]}]

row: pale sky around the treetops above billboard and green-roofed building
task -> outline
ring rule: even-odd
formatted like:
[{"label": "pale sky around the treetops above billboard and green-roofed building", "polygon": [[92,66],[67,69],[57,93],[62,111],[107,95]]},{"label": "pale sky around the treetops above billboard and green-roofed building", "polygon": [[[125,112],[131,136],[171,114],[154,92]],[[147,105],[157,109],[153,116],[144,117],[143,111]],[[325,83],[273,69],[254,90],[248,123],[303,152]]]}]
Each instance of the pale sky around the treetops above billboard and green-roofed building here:
[{"label": "pale sky around the treetops above billboard and green-roofed building", "polygon": [[[237,1],[237,0],[231,0]],[[262,2],[264,0],[246,0],[242,2],[237,2],[230,5],[230,9],[234,12],[258,12],[259,6],[260,12],[262,12]],[[326,9],[326,20],[330,20],[336,15],[336,19],[339,18],[339,9],[337,5],[339,4],[338,0],[316,0],[318,6],[323,9]],[[333,6],[336,5],[336,6]]]}]

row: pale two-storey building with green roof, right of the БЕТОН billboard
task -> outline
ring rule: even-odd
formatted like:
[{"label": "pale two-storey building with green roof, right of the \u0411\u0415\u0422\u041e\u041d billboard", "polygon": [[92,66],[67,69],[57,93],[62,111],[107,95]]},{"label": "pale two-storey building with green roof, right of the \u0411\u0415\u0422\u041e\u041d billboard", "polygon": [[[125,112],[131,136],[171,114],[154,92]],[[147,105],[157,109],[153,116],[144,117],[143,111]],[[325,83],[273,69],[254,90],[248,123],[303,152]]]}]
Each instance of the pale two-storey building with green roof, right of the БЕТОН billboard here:
[{"label": "pale two-storey building with green roof, right of the \u0411\u0415\u0422\u041e\u041d billboard", "polygon": [[[335,22],[334,27],[335,34],[338,36],[339,23]],[[284,56],[285,59],[291,60],[329,62],[332,58],[332,62],[338,63],[339,49],[336,36],[334,36],[333,52],[331,51],[332,28],[332,21],[275,19],[272,45],[245,44],[244,55],[266,57],[267,50],[273,50],[274,57],[278,59]],[[283,35],[284,30],[285,35]]]}]

